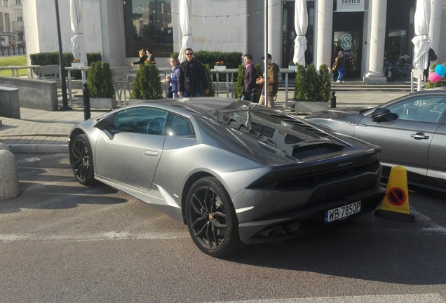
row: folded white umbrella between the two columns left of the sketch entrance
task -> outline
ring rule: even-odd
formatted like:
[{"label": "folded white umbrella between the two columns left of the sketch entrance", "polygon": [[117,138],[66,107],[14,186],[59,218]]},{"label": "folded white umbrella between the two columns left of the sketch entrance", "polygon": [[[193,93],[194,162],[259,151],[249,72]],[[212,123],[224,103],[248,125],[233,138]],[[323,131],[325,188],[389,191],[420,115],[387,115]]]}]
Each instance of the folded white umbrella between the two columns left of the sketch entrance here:
[{"label": "folded white umbrella between the two columns left of the sketch entrance", "polygon": [[305,66],[306,29],[308,28],[308,13],[306,12],[306,0],[296,0],[295,3],[295,55],[292,61]]}]

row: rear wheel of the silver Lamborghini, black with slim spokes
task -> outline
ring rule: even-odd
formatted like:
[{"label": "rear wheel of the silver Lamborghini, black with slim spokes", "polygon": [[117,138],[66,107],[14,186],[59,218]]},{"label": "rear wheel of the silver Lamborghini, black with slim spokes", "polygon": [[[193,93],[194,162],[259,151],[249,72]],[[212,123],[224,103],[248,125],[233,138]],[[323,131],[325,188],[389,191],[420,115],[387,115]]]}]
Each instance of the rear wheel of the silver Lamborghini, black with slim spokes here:
[{"label": "rear wheel of the silver Lamborghini, black with slim spokes", "polygon": [[204,253],[222,257],[243,246],[231,198],[217,178],[203,177],[192,185],[185,215],[189,233]]}]

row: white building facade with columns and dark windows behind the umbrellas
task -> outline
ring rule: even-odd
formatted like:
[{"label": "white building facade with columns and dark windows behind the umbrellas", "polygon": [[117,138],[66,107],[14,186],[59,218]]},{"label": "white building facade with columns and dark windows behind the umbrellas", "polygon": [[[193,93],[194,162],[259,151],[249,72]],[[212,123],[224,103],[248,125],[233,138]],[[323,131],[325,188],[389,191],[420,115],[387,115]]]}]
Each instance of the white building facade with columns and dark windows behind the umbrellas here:
[{"label": "white building facade with columns and dark windows behind the umbrellas", "polygon": [[[1,1],[1,0],[0,0]],[[3,0],[5,1],[5,0]],[[9,0],[13,1],[13,0]],[[86,51],[114,66],[128,65],[149,48],[166,58],[181,47],[179,0],[82,0]],[[191,0],[194,50],[251,53],[260,63],[267,48],[273,62],[288,66],[295,39],[295,0]],[[429,36],[438,63],[446,62],[446,0],[433,0]],[[62,51],[70,51],[69,0],[58,0]],[[417,0],[306,1],[306,61],[332,65],[344,50],[346,76],[381,81],[384,55],[396,41],[412,58]],[[22,0],[27,53],[58,51],[55,1]],[[265,9],[268,20],[264,21]],[[158,60],[157,60],[158,63]]]}]

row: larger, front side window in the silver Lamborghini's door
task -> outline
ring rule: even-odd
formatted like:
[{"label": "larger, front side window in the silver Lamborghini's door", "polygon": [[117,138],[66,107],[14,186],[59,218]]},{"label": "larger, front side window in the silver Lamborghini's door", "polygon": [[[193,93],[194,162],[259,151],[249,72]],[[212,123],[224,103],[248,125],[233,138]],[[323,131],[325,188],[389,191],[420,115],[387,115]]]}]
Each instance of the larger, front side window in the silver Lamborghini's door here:
[{"label": "larger, front side window in the silver Lamborghini's door", "polygon": [[112,131],[147,135],[162,135],[168,112],[150,107],[136,107],[119,112],[114,117]]}]

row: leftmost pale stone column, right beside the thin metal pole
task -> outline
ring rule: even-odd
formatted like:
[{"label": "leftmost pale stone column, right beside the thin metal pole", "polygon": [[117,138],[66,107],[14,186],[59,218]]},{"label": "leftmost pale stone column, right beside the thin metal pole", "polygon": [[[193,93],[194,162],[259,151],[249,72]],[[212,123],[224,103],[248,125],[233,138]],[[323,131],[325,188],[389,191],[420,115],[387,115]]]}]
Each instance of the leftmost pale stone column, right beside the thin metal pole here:
[{"label": "leftmost pale stone column, right beside the thin metal pole", "polygon": [[282,62],[282,13],[281,0],[268,0],[268,53],[279,66]]}]

